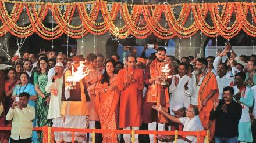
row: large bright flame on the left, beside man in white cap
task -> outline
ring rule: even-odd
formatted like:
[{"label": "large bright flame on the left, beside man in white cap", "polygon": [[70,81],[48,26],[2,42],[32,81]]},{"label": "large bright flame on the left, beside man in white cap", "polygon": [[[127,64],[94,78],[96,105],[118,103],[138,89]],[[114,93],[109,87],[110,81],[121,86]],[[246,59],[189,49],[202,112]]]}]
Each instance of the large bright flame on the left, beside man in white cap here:
[{"label": "large bright flame on the left, beside man in white cap", "polygon": [[84,71],[85,67],[86,66],[83,64],[83,61],[80,61],[79,67],[77,67],[77,71],[74,72],[74,67],[72,65],[72,75],[67,77],[66,82],[80,82],[80,80],[83,79],[84,76],[87,76],[90,72],[88,67],[86,68],[86,71]]}]

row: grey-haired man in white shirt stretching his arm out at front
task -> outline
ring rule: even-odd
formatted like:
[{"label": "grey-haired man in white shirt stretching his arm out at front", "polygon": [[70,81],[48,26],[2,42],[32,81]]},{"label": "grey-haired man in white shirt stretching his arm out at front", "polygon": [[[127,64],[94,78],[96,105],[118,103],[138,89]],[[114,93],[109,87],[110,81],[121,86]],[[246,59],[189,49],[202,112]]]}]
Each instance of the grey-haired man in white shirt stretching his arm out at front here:
[{"label": "grey-haired man in white shirt stretching his arm out at front", "polygon": [[[202,127],[202,123],[198,116],[199,114],[198,108],[195,105],[190,105],[189,108],[187,108],[186,117],[181,117],[181,118],[177,118],[176,116],[170,115],[169,113],[163,110],[161,105],[159,106],[154,105],[152,106],[152,108],[163,113],[163,115],[165,115],[167,118],[169,118],[173,122],[182,123],[184,125],[183,131],[204,130],[204,127]],[[187,142],[193,142],[193,143],[197,142],[196,136],[186,136],[186,138],[183,138],[183,137],[179,137],[179,138],[186,140]],[[181,142],[185,142],[185,141],[181,141]]]}]

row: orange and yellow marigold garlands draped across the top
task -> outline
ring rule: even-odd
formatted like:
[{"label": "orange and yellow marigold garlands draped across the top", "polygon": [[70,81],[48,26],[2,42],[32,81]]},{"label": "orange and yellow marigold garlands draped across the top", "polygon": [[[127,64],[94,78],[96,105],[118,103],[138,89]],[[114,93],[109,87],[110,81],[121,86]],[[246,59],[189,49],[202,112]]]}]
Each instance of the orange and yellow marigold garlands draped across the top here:
[{"label": "orange and yellow marigold garlands draped across the top", "polygon": [[[8,12],[6,5],[12,4]],[[108,5],[111,4],[111,9]],[[91,5],[87,10],[86,5]],[[180,7],[176,16],[173,9]],[[65,7],[65,9],[62,9]],[[221,9],[220,9],[221,8]],[[18,25],[20,15],[26,10],[29,24]],[[194,17],[193,22],[186,27],[189,15]],[[44,20],[51,13],[56,26],[47,28]],[[75,14],[76,13],[76,14]],[[118,13],[121,14],[124,24],[118,27],[115,24]],[[99,22],[98,16],[103,20]],[[145,24],[140,23],[143,16]],[[79,16],[79,17],[77,17]],[[253,17],[253,23],[248,17]],[[177,18],[176,18],[177,17]],[[208,17],[208,19],[207,19]],[[79,25],[73,25],[73,19],[80,19]],[[164,27],[161,19],[166,19],[168,27]],[[51,40],[67,34],[72,38],[81,38],[87,34],[103,35],[110,32],[119,39],[129,35],[136,38],[147,38],[154,34],[160,39],[190,38],[198,31],[209,37],[223,36],[233,38],[241,30],[246,34],[256,36],[256,3],[250,2],[223,2],[223,3],[181,3],[173,5],[130,5],[121,2],[89,1],[73,3],[45,3],[19,2],[0,0],[0,36],[7,32],[19,38],[36,33],[41,38]],[[230,22],[232,21],[232,22]]]}]

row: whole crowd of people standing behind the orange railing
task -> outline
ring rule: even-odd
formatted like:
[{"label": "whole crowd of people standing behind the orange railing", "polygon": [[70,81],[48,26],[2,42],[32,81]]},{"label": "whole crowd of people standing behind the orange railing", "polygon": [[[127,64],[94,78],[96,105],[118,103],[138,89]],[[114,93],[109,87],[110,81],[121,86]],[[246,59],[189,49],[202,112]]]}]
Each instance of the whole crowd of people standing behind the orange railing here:
[{"label": "whole crowd of people standing behind the orange railing", "polygon": [[[43,126],[209,130],[211,141],[256,142],[256,55],[237,56],[227,44],[217,57],[178,60],[157,45],[146,57],[147,48],[138,54],[125,46],[123,62],[117,54],[83,58],[53,51],[15,55],[9,64],[1,57],[0,126],[12,131],[1,131],[0,142],[42,142],[42,132],[32,129]],[[134,142],[154,142],[154,135],[138,136]],[[72,133],[55,132],[54,140],[72,142]],[[92,134],[75,133],[74,140],[91,142]],[[131,142],[131,134],[96,134],[96,142]],[[179,136],[177,142],[197,137]]]}]

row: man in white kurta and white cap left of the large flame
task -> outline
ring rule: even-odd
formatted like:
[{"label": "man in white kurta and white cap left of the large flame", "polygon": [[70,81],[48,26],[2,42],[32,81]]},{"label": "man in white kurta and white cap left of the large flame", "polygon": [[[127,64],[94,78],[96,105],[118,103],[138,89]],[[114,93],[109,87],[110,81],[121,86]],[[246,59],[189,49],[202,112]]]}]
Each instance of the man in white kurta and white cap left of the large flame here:
[{"label": "man in white kurta and white cap left of the large flame", "polygon": [[[63,101],[61,101],[62,96],[62,86],[63,86],[63,71],[64,65],[59,62],[54,68],[56,75],[52,76],[52,81],[48,82],[45,86],[45,91],[51,93],[51,100],[49,103],[49,110],[47,114],[47,119],[52,119],[52,127],[63,127],[63,116],[61,115],[61,107]],[[54,138],[56,142],[63,141],[62,132],[54,132]]]}]

